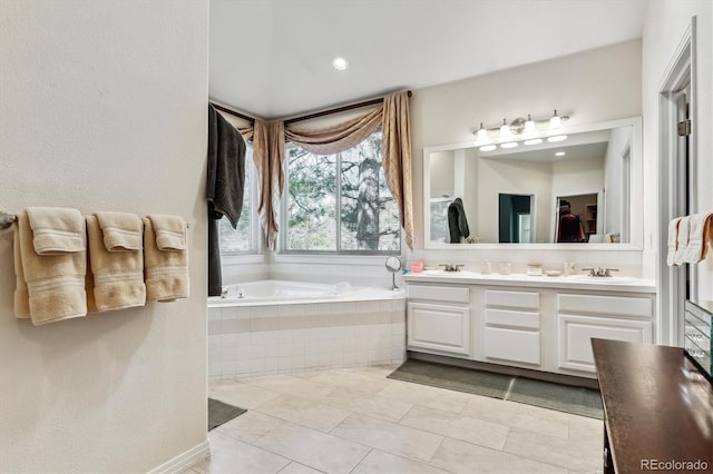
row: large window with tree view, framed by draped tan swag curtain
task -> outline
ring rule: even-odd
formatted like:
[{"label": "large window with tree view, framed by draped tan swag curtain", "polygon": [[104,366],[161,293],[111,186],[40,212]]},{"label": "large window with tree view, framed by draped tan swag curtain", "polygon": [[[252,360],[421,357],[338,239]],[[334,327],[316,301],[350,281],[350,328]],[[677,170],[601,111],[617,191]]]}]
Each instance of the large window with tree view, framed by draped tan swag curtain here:
[{"label": "large window with tree view, framed by draped tan swag curtain", "polygon": [[399,253],[399,209],[381,161],[381,131],[336,155],[286,152],[286,251]]}]

